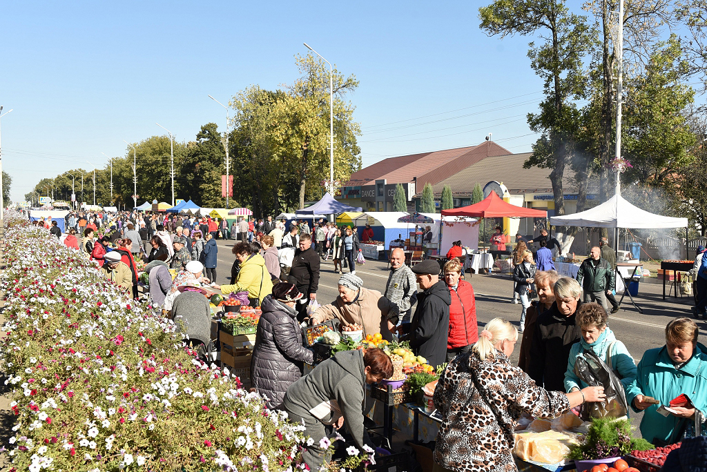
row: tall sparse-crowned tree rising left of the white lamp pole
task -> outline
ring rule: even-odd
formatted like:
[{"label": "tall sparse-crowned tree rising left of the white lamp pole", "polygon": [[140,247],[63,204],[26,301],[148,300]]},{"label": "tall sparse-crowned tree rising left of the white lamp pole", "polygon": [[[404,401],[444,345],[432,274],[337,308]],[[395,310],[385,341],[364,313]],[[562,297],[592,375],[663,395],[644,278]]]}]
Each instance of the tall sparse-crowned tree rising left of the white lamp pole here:
[{"label": "tall sparse-crowned tree rising left of the white lamp pole", "polygon": [[490,6],[479,8],[481,30],[489,35],[540,36],[541,46],[530,42],[528,57],[531,67],[544,79],[545,100],[538,114],[528,114],[533,131],[542,133],[534,144],[533,154],[524,167],[552,169],[550,182],[555,211],[564,214],[563,177],[568,158],[573,153],[579,112],[571,98],[585,95],[587,77],[583,59],[592,43],[592,28],[585,16],[568,11],[559,0],[496,0]]}]

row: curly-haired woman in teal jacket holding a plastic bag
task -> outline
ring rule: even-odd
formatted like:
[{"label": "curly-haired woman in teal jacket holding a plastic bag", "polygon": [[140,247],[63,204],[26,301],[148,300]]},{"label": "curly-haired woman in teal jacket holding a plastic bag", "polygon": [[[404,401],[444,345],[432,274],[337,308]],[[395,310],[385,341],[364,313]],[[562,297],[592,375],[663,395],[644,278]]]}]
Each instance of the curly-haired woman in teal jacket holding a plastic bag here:
[{"label": "curly-haired woman in teal jacket holding a plastic bag", "polygon": [[[609,319],[607,311],[598,303],[585,303],[580,307],[576,323],[582,329],[582,339],[579,343],[574,343],[570,350],[565,372],[565,391],[589,387],[574,372],[577,355],[585,349],[595,353],[614,371],[619,372],[624,389],[636,379],[636,363],[633,362],[624,343],[617,341],[614,331],[607,326],[607,319]],[[607,358],[609,350],[611,350],[611,359]]]}]

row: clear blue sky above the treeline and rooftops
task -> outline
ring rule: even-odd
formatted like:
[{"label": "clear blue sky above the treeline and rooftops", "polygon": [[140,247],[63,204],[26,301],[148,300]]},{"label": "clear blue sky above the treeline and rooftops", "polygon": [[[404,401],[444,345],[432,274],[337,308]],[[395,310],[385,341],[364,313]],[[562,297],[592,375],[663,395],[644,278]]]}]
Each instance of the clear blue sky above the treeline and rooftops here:
[{"label": "clear blue sky above the treeline and rooftops", "polygon": [[[0,26],[3,169],[13,201],[44,177],[105,167],[129,142],[189,141],[225,125],[249,85],[297,76],[307,42],[361,82],[349,96],[363,165],[392,155],[470,146],[487,133],[530,151],[525,114],[542,82],[530,38],[487,37],[484,2],[4,1]],[[416,125],[416,126],[411,126]],[[138,163],[138,170],[140,164]],[[166,176],[165,176],[166,178]],[[178,197],[178,196],[177,196]]]}]

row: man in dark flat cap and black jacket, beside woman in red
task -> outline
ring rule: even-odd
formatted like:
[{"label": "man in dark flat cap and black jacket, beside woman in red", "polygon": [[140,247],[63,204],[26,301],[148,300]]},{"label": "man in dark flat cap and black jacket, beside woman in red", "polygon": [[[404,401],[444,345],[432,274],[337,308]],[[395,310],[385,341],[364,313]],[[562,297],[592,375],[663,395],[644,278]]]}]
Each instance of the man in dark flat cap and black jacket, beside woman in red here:
[{"label": "man in dark flat cap and black jacket, beside woman in red", "polygon": [[433,367],[447,360],[447,336],[449,333],[449,307],[452,296],[444,281],[440,281],[440,266],[427,259],[412,268],[417,285],[423,290],[417,293],[417,308],[412,317],[407,340],[417,355],[421,355]]}]

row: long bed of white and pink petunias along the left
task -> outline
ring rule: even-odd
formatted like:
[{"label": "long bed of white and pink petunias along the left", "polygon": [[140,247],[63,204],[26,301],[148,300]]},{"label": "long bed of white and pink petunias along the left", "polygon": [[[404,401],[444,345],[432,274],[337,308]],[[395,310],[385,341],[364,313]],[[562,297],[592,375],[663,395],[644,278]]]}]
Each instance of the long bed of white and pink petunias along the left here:
[{"label": "long bed of white and pink petunias along the left", "polygon": [[6,213],[4,361],[16,470],[285,471],[303,427],[205,365],[175,324]]}]

